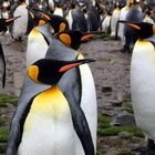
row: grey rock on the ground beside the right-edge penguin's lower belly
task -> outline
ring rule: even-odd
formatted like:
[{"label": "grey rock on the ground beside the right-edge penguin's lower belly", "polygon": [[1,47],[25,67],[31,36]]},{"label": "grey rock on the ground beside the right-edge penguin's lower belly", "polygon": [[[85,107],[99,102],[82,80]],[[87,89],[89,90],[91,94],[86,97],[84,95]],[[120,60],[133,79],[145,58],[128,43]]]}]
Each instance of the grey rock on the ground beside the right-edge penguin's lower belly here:
[{"label": "grey rock on the ground beside the right-edge penguin's lower belly", "polygon": [[124,112],[116,115],[113,121],[111,122],[112,126],[128,126],[135,125],[134,115],[127,112]]}]

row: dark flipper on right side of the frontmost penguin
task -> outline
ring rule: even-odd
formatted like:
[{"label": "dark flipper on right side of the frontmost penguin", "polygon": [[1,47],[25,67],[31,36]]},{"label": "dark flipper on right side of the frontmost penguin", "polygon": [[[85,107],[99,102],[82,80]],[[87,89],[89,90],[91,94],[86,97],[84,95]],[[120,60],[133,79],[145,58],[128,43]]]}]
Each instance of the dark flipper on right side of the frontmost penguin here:
[{"label": "dark flipper on right side of the frontmost penguin", "polygon": [[68,92],[66,99],[70,97],[70,101],[72,101],[69,102],[69,105],[71,110],[74,130],[82,143],[85,155],[95,155],[93,140],[86,117],[80,104],[76,104],[72,94],[73,93]]}]

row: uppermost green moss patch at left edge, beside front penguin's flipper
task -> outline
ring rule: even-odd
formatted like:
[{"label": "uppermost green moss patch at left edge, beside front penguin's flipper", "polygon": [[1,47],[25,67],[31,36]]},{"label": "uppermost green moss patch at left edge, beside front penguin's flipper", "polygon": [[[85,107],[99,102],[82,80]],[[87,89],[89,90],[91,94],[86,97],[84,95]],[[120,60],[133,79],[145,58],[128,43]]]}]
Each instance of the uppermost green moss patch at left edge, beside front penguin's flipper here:
[{"label": "uppermost green moss patch at left edge, beside front penguin's flipper", "polygon": [[0,106],[7,107],[8,104],[17,105],[18,97],[12,95],[0,94]]}]

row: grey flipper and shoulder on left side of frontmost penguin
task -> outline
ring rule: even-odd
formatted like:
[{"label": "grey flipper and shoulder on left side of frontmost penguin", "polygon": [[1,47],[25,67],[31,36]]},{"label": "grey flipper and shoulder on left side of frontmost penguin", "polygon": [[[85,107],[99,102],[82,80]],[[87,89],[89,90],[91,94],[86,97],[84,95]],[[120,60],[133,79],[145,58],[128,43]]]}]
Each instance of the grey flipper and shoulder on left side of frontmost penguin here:
[{"label": "grey flipper and shoulder on left side of frontmost penguin", "polygon": [[17,155],[18,147],[22,137],[23,123],[29,113],[31,103],[37,94],[49,87],[50,86],[40,85],[33,82],[28,78],[28,75],[25,76],[18,101],[18,108],[11,122],[6,155]]}]

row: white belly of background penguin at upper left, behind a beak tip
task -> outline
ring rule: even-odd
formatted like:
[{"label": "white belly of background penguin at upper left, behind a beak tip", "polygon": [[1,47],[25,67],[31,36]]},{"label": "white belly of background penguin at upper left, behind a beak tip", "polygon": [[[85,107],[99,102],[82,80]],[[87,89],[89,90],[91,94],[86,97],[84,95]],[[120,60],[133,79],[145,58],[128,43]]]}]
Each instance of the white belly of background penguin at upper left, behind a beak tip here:
[{"label": "white belly of background penguin at upper left, behind a beak tip", "polygon": [[16,9],[13,17],[18,17],[18,16],[20,16],[20,18],[14,20],[12,25],[12,31],[11,31],[11,35],[13,39],[19,39],[23,37],[27,32],[28,10],[25,9],[25,6],[22,4]]}]

